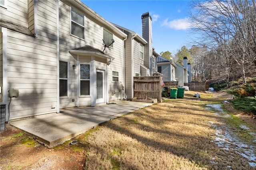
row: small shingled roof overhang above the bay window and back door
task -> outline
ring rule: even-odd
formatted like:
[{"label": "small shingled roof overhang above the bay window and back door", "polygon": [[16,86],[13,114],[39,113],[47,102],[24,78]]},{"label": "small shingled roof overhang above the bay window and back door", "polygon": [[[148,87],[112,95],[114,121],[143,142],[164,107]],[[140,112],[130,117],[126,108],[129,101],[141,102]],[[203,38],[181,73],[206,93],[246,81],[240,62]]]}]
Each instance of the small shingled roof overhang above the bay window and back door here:
[{"label": "small shingled roof overhang above the bay window and back door", "polygon": [[96,49],[90,45],[85,45],[83,47],[70,49],[69,53],[76,54],[76,55],[94,55],[99,58],[104,58],[106,59],[107,65],[109,65],[114,60],[113,57],[110,57],[109,55],[104,54],[102,51],[100,51],[100,49]]}]

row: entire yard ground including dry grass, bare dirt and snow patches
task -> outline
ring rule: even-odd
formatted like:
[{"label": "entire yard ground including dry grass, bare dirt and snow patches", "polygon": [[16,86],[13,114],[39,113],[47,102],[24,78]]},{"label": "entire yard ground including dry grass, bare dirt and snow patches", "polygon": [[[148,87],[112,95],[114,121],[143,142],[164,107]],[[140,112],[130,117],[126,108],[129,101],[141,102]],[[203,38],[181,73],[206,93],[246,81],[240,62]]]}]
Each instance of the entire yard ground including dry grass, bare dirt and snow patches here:
[{"label": "entire yard ground including dry grass, bare dirt and snow patches", "polygon": [[226,93],[194,93],[112,119],[54,148],[8,125],[0,135],[0,169],[256,170],[256,119],[223,110]]}]

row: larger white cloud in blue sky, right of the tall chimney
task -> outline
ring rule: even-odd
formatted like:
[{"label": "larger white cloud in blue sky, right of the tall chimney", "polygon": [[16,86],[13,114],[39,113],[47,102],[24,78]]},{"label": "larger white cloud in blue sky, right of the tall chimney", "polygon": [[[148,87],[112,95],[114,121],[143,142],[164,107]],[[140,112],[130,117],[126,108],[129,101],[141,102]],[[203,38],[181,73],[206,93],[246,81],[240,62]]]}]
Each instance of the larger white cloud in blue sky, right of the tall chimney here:
[{"label": "larger white cloud in blue sky, right of the tall chimney", "polygon": [[167,26],[174,30],[186,30],[190,28],[190,23],[188,18],[175,19],[172,21],[168,21],[168,18],[166,18],[162,23],[162,26]]}]

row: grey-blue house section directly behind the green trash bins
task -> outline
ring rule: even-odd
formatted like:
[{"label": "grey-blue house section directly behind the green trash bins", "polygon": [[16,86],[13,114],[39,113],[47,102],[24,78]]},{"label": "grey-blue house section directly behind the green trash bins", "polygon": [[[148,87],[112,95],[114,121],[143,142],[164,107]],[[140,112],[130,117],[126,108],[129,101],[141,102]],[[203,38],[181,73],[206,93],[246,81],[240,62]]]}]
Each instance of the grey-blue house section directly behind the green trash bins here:
[{"label": "grey-blue house section directly behind the green trash bins", "polygon": [[162,56],[157,58],[157,71],[163,74],[164,81],[176,81],[176,64]]}]

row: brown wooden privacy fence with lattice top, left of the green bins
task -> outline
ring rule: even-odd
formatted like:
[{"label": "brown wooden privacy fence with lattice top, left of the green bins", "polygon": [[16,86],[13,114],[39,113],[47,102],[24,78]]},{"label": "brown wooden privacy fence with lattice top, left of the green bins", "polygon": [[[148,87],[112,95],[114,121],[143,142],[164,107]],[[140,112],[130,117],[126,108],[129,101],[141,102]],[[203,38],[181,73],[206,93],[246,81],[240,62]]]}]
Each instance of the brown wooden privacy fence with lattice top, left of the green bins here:
[{"label": "brown wooden privacy fence with lattice top, left of the green bins", "polygon": [[134,97],[152,98],[162,102],[162,78],[158,76],[133,77]]}]

